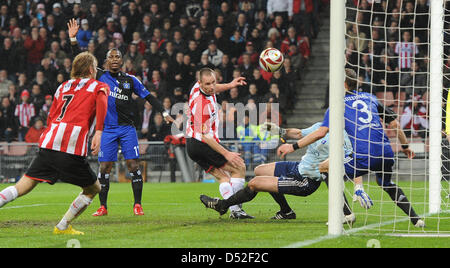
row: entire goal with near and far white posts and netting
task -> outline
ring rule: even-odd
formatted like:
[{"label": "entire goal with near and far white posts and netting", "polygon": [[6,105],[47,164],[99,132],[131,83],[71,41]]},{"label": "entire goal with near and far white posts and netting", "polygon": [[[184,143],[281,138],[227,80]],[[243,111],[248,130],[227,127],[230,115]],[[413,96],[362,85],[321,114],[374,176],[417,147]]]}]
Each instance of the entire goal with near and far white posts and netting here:
[{"label": "entire goal with near and far white posts and netting", "polygon": [[[450,0],[333,0],[330,4],[328,234],[357,230],[450,235],[450,126],[447,140],[443,135],[443,122],[450,122]],[[342,179],[345,68],[356,72],[358,90],[373,95],[362,94],[378,108],[370,115],[378,113],[383,121],[368,123],[358,117],[352,122],[367,131],[368,138],[377,133],[368,143],[369,150],[372,144],[383,145],[377,150],[383,150],[379,156],[359,165],[362,172],[355,171],[355,175],[367,174],[363,186],[373,207],[350,204],[356,216],[353,225],[342,223],[343,193],[347,199],[353,195],[351,183]],[[371,166],[375,158],[383,159],[382,167]]]}]

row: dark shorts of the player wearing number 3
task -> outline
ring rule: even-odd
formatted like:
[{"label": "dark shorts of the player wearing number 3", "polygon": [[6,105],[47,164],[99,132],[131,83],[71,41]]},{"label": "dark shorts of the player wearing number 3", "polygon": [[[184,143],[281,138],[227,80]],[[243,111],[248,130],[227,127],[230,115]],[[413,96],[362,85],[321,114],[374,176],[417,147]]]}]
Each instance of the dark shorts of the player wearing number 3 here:
[{"label": "dark shorts of the player wearing number 3", "polygon": [[394,166],[393,158],[371,157],[364,159],[352,159],[347,162],[345,167],[345,175],[353,180],[354,178],[366,175],[369,171],[375,172],[377,183],[380,186],[392,185],[392,169]]}]

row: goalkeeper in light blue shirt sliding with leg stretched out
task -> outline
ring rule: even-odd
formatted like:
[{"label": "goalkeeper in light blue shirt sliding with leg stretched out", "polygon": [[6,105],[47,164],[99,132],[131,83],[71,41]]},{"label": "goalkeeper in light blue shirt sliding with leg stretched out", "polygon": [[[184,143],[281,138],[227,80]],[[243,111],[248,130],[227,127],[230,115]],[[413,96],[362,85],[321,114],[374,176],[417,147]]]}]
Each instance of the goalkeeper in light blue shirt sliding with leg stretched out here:
[{"label": "goalkeeper in light blue shirt sliding with leg stretched out", "polygon": [[[321,125],[320,122],[302,130],[281,129],[281,134],[286,139],[300,139],[316,131]],[[271,127],[273,128],[274,125],[271,125]],[[275,132],[279,133],[278,130]],[[345,158],[351,159],[352,145],[345,131],[344,137]],[[200,200],[207,208],[215,209],[222,215],[226,213],[230,206],[251,201],[258,192],[269,192],[280,205],[280,211],[272,219],[295,219],[295,212],[290,208],[284,195],[309,196],[319,188],[321,182],[325,179],[319,172],[319,165],[328,159],[328,144],[329,137],[325,135],[322,139],[308,146],[306,154],[299,162],[284,161],[259,165],[255,168],[256,177],[244,189],[226,200],[219,200],[206,195],[200,196]],[[345,201],[344,222],[352,223],[355,216],[350,211],[346,199]]]}]

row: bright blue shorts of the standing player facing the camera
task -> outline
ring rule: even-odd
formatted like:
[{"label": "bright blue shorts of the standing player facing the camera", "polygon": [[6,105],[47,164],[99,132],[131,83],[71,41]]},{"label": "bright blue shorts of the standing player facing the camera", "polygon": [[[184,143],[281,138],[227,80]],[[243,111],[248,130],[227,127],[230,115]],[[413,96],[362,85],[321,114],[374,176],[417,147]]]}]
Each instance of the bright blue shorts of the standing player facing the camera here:
[{"label": "bright blue shorts of the standing player facing the camera", "polygon": [[98,161],[116,162],[119,143],[126,160],[139,158],[138,137],[133,126],[105,126]]}]

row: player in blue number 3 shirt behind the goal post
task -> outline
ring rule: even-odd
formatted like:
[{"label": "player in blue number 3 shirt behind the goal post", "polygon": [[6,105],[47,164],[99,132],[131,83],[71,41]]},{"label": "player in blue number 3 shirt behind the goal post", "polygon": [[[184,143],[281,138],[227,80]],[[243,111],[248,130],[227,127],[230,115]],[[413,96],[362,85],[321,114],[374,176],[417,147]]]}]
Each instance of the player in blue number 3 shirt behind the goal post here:
[{"label": "player in blue number 3 shirt behind the goal post", "polygon": [[[396,131],[403,153],[410,159],[415,156],[408,146],[405,133],[399,126],[397,115],[384,107],[372,94],[357,91],[357,76],[354,70],[346,69],[345,72],[345,130],[353,147],[353,160],[345,164],[346,176],[355,179],[369,171],[375,172],[378,185],[410,217],[413,225],[424,227],[424,221],[416,214],[406,194],[392,182],[394,152],[384,131],[385,124]],[[283,144],[278,148],[278,155],[284,157],[308,146],[325,137],[328,130],[329,110],[325,113],[320,128],[294,144]],[[322,163],[320,171],[328,172],[328,161]]]}]

